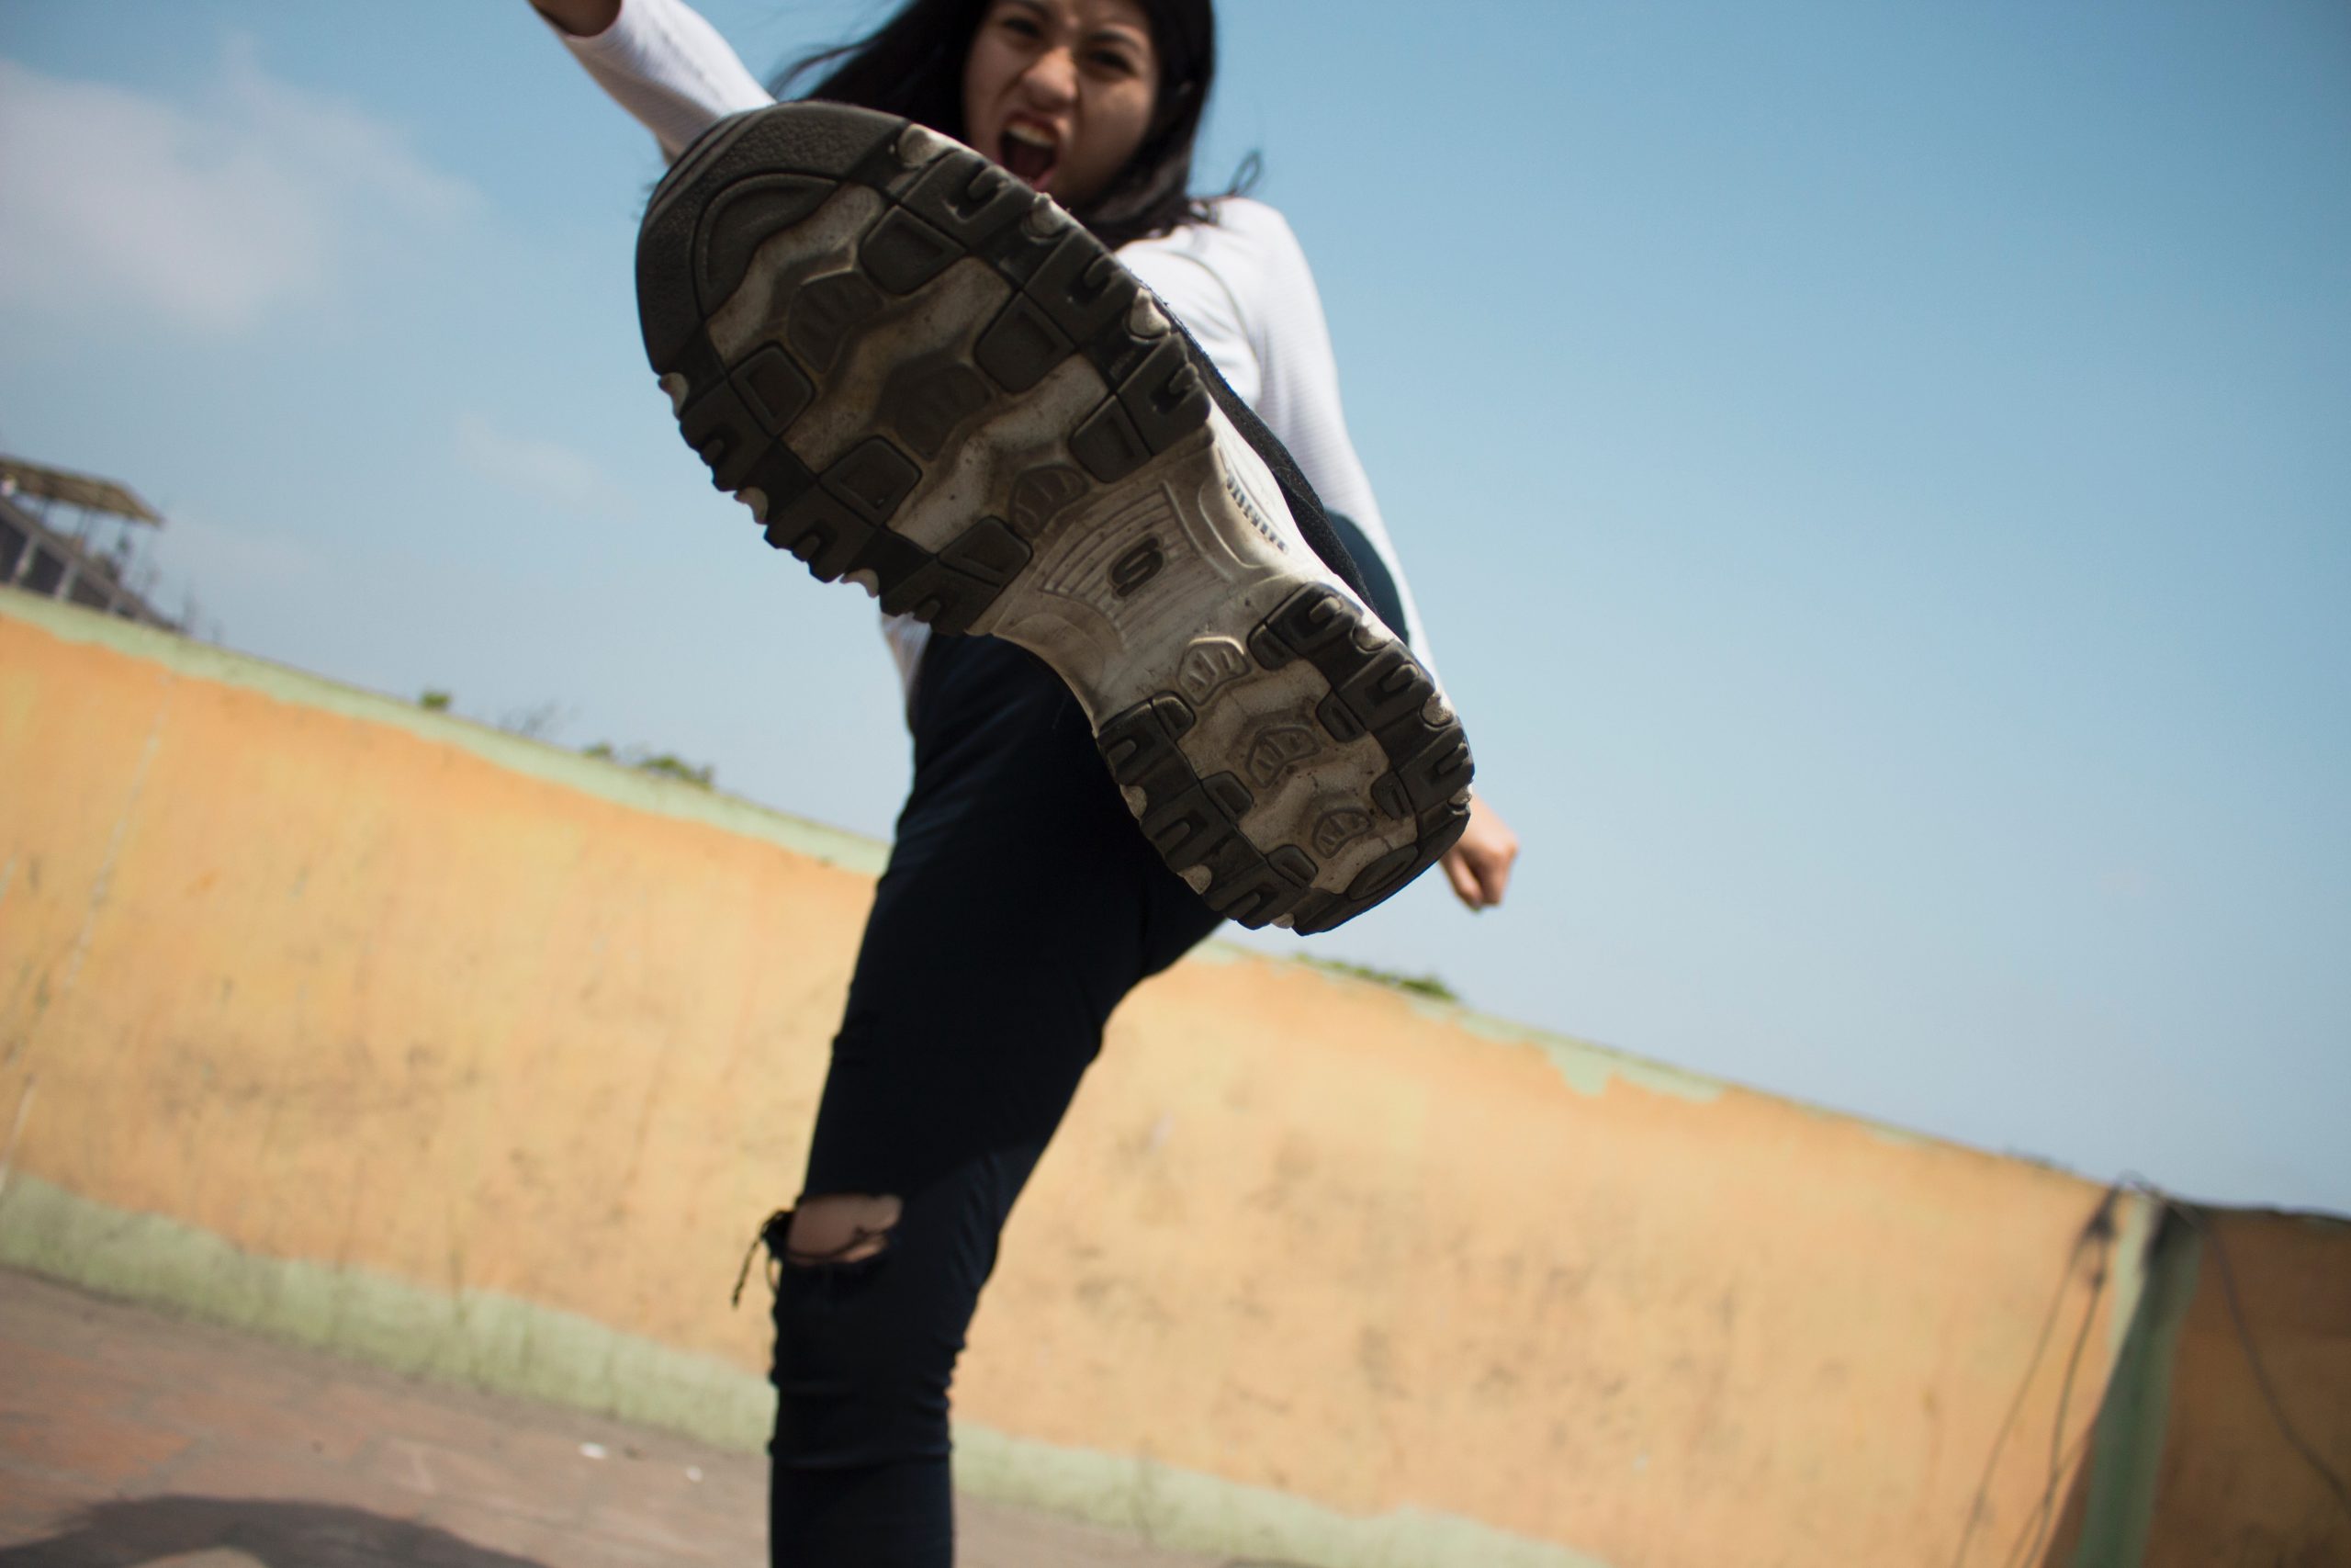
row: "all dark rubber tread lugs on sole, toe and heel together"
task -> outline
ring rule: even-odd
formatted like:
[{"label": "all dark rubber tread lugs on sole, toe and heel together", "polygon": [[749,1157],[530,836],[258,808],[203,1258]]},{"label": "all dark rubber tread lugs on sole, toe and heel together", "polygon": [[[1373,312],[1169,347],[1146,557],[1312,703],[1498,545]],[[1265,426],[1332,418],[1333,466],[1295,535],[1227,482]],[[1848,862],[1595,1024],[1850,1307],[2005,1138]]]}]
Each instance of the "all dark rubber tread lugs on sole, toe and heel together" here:
[{"label": "all dark rubber tread lugs on sole, toe and heel together", "polygon": [[[762,343],[726,364],[708,336],[708,315],[741,287],[769,235],[806,219],[842,183],[884,197],[884,212],[856,242],[853,266],[797,289],[781,346]],[[973,341],[969,364],[978,374],[955,357],[900,367],[875,409],[875,428],[898,440],[865,435],[823,475],[811,473],[788,433],[818,400],[849,339],[889,299],[922,289],[964,256],[978,256],[1013,287]],[[1171,331],[1159,310],[1140,306],[1140,284],[1065,212],[978,153],[868,110],[752,110],[686,148],[639,230],[637,296],[647,357],[663,376],[684,381],[686,444],[719,489],[764,496],[766,541],[806,562],[818,581],[851,574],[870,581],[886,611],[912,614],[945,635],[969,630],[987,611],[1027,567],[1030,541],[1060,510],[1093,484],[1126,477],[1204,428],[1213,407],[1230,404],[1230,388],[1213,364],[1201,369],[1199,348],[1180,324]],[[938,458],[955,428],[992,402],[987,383],[1020,395],[1072,355],[1086,355],[1114,388],[1070,433],[1074,465],[1046,463],[1018,475],[1006,517],[980,517],[936,552],[889,529],[922,482],[922,463]],[[1260,451],[1272,442],[1253,414],[1234,423]],[[1279,442],[1267,461],[1293,498],[1302,480],[1293,484],[1295,468]],[[1310,491],[1293,498],[1293,515],[1300,503],[1314,505]],[[1319,510],[1312,522],[1321,524]],[[1310,541],[1331,557],[1312,529]],[[1354,585],[1352,562],[1331,567]],[[1319,863],[1310,846],[1260,851],[1248,839],[1241,820],[1255,797],[1239,773],[1194,773],[1180,745],[1194,712],[1180,693],[1161,691],[1112,715],[1096,743],[1145,837],[1213,910],[1246,926],[1281,919],[1300,933],[1328,931],[1453,846],[1467,823],[1469,750],[1460,724],[1432,701],[1420,665],[1328,588],[1300,588],[1246,642],[1262,670],[1300,658],[1314,665],[1328,684],[1317,705],[1321,729],[1333,743],[1371,733],[1389,762],[1366,806],[1389,823],[1413,820],[1413,842],[1357,872],[1345,893],[1314,886]],[[1338,816],[1345,820],[1333,837],[1345,849],[1371,813],[1345,806]],[[1319,827],[1331,820],[1326,813]]]}]

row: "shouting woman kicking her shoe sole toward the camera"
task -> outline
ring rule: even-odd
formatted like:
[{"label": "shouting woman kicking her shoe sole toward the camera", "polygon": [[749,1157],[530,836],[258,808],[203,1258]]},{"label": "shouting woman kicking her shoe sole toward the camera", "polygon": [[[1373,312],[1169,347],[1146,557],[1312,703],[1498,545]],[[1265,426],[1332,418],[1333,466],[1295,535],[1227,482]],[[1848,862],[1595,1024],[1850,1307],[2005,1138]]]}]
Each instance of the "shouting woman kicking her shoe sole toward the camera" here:
[{"label": "shouting woman kicking her shoe sole toward the camera", "polygon": [[1439,856],[1500,903],[1516,842],[1465,795],[1298,242],[1190,197],[1208,0],[912,0],[804,66],[1027,190],[860,110],[722,125],[771,96],[677,0],[534,5],[679,160],[639,306],[686,440],[893,611],[915,785],[762,1237],[771,1540],[943,1568],[955,1356],[1117,1001],[1218,910],[1328,929]]}]

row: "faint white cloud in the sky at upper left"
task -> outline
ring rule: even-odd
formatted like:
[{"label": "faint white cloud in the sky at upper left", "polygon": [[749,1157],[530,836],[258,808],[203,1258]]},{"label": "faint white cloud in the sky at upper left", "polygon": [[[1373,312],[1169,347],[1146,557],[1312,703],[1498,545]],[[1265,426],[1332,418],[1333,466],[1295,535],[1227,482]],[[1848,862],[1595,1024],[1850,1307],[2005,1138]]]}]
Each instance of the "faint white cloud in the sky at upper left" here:
[{"label": "faint white cloud in the sky at upper left", "polygon": [[228,45],[193,108],[0,59],[0,306],[235,331],[331,292],[381,223],[480,205],[400,134]]}]

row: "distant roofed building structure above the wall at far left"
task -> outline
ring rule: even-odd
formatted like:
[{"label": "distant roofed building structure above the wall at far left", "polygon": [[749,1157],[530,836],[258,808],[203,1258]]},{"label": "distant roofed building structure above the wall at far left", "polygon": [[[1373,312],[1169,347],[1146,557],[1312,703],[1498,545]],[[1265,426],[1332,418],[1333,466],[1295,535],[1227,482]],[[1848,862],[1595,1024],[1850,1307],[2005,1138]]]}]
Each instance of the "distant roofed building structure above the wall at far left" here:
[{"label": "distant roofed building structure above the wall at far left", "polygon": [[127,484],[0,456],[0,583],[179,630],[146,599],[139,545],[162,515]]}]

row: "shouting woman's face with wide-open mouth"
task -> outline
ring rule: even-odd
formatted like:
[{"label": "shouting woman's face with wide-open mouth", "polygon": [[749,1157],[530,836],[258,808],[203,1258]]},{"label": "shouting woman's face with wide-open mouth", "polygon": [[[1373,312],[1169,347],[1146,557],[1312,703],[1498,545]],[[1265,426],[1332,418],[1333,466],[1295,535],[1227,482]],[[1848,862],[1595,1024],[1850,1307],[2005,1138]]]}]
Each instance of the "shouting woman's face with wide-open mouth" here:
[{"label": "shouting woman's face with wide-open mouth", "polygon": [[1063,207],[1143,146],[1159,54],[1136,0],[992,0],[964,59],[964,139]]}]

